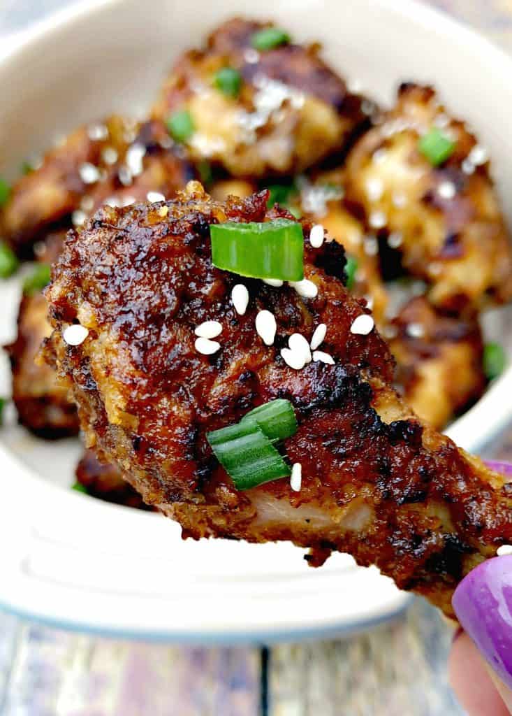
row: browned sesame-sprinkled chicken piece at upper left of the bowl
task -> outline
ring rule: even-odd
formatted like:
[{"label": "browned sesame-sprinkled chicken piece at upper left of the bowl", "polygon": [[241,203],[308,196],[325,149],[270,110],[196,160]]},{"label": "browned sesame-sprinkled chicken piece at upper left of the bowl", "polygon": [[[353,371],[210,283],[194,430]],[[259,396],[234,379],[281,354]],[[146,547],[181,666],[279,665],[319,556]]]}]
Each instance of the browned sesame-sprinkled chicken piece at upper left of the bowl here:
[{"label": "browned sesame-sprinkled chicken piece at upper left of the bowl", "polygon": [[122,117],[80,127],[21,177],[0,213],[0,233],[20,256],[57,228],[79,224],[104,203],[166,197],[194,178],[171,147],[161,122],[137,125]]}]

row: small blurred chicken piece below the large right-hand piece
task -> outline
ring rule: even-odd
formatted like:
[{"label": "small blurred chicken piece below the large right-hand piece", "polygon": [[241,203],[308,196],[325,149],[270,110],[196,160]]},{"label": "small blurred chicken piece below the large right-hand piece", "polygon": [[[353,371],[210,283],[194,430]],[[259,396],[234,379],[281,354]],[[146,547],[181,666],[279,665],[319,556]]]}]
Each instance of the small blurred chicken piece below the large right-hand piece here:
[{"label": "small blurred chicken piece below the large right-hand piece", "polygon": [[405,402],[421,420],[444,427],[486,387],[483,342],[476,319],[439,314],[424,297],[409,301],[393,321],[389,347],[398,363]]}]

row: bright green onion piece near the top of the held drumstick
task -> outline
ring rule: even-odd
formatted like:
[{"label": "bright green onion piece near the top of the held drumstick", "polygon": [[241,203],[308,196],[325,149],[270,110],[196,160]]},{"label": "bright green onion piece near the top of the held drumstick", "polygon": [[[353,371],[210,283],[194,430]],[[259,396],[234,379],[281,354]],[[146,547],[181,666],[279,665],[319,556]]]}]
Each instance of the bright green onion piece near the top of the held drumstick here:
[{"label": "bright green onion piece near the top of the held drumstick", "polygon": [[300,223],[229,221],[210,226],[212,261],[217,269],[252,279],[302,281],[304,238]]}]

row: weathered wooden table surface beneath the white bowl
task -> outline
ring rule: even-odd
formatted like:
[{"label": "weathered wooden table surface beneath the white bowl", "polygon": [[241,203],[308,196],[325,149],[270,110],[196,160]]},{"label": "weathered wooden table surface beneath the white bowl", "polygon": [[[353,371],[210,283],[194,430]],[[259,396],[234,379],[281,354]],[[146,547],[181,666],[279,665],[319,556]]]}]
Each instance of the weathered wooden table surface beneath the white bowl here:
[{"label": "weathered wooden table surface beneath the white bowl", "polygon": [[[64,4],[1,0],[0,41]],[[512,0],[431,4],[512,52]],[[512,428],[486,453],[512,459]],[[456,716],[450,642],[419,599],[360,637],[272,649],[91,639],[0,614],[0,716]]]}]

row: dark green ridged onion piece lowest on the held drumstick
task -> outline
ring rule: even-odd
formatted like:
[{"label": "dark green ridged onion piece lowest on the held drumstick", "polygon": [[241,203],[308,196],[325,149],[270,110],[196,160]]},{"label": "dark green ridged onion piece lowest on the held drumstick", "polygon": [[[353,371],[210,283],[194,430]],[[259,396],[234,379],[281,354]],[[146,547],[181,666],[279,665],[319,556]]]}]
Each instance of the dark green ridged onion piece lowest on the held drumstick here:
[{"label": "dark green ridged onion piece lowest on the held drumstick", "polygon": [[208,432],[206,437],[237,490],[250,490],[291,474],[289,465],[253,420]]}]

